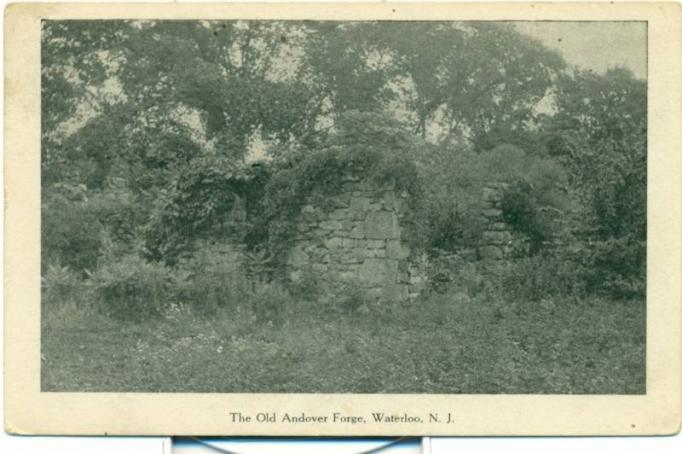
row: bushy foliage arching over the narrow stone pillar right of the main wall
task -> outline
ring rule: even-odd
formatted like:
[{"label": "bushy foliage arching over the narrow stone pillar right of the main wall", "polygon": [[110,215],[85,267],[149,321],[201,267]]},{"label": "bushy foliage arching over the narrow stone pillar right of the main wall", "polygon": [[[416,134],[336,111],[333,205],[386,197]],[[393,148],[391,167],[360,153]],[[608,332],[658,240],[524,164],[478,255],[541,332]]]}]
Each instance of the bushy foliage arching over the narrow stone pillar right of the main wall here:
[{"label": "bushy foliage arching over the narrow stone pillar right of the main wall", "polygon": [[418,162],[424,185],[418,218],[431,248],[455,252],[480,240],[483,188],[490,183],[510,185],[502,201],[505,220],[532,235],[538,248],[566,204],[563,168],[511,145],[481,153],[452,145],[423,147]]}]

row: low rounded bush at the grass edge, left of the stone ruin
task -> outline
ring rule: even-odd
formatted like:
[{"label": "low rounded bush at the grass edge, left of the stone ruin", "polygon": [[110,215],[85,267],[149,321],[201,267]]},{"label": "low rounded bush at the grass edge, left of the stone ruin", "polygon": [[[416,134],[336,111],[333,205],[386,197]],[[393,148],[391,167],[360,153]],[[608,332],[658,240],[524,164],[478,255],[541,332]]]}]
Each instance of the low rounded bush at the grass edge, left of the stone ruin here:
[{"label": "low rounded bush at the grass edge, left of the stone ruin", "polygon": [[163,265],[127,255],[100,267],[92,277],[101,309],[120,320],[143,321],[158,316],[175,299],[177,282]]}]

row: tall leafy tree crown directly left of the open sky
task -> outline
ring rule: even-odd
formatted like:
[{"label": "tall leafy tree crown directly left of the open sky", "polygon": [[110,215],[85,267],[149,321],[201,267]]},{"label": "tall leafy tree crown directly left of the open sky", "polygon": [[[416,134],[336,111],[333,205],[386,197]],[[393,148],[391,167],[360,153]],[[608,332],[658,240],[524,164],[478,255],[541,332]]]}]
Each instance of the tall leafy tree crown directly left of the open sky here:
[{"label": "tall leafy tree crown directly left of the open sky", "polygon": [[507,24],[388,22],[377,30],[403,78],[415,132],[425,137],[439,123],[479,150],[509,142],[534,121],[535,105],[565,65]]}]

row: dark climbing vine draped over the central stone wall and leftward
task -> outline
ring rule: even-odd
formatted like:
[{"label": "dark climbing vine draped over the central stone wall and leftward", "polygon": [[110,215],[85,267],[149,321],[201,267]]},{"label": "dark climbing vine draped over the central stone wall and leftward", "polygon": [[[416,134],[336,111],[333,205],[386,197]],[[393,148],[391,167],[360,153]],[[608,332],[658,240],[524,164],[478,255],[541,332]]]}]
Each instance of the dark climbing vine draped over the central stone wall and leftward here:
[{"label": "dark climbing vine draped over the central stone wall and leftward", "polygon": [[[192,162],[164,194],[147,231],[150,256],[173,262],[191,249],[192,241],[210,237],[244,242],[250,251],[265,252],[273,266],[283,263],[301,208],[313,199],[325,201],[342,191],[348,175],[378,187],[391,184],[418,199],[421,185],[414,160],[419,144],[394,120],[350,112],[334,132],[312,146],[277,150],[270,162],[234,166],[218,158]],[[245,217],[235,222],[238,201]],[[413,211],[413,210],[410,210]],[[416,243],[416,225],[406,220]]]}]

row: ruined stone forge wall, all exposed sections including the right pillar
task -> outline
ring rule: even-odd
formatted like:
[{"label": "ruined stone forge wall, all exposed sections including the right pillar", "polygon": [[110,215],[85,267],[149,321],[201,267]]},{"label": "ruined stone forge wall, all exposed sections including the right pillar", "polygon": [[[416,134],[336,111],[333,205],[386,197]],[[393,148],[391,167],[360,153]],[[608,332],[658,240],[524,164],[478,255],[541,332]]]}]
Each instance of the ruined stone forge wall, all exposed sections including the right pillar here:
[{"label": "ruined stone forge wall, all exposed sections including the right pillar", "polygon": [[[503,221],[501,209],[506,188],[504,183],[492,183],[483,189],[481,242],[476,248],[456,253],[464,261],[497,262],[510,257],[515,237]],[[292,281],[314,277],[326,300],[343,299],[354,289],[370,301],[417,297],[426,284],[428,263],[405,241],[402,225],[408,210],[406,198],[407,194],[399,194],[394,188],[376,188],[346,177],[342,191],[325,200],[331,209],[316,206],[309,199],[301,210],[288,254],[288,277]],[[237,208],[230,218],[243,222],[244,207]],[[211,248],[225,261],[233,262],[235,273],[252,285],[267,280],[247,269],[245,245],[212,244]]]}]

